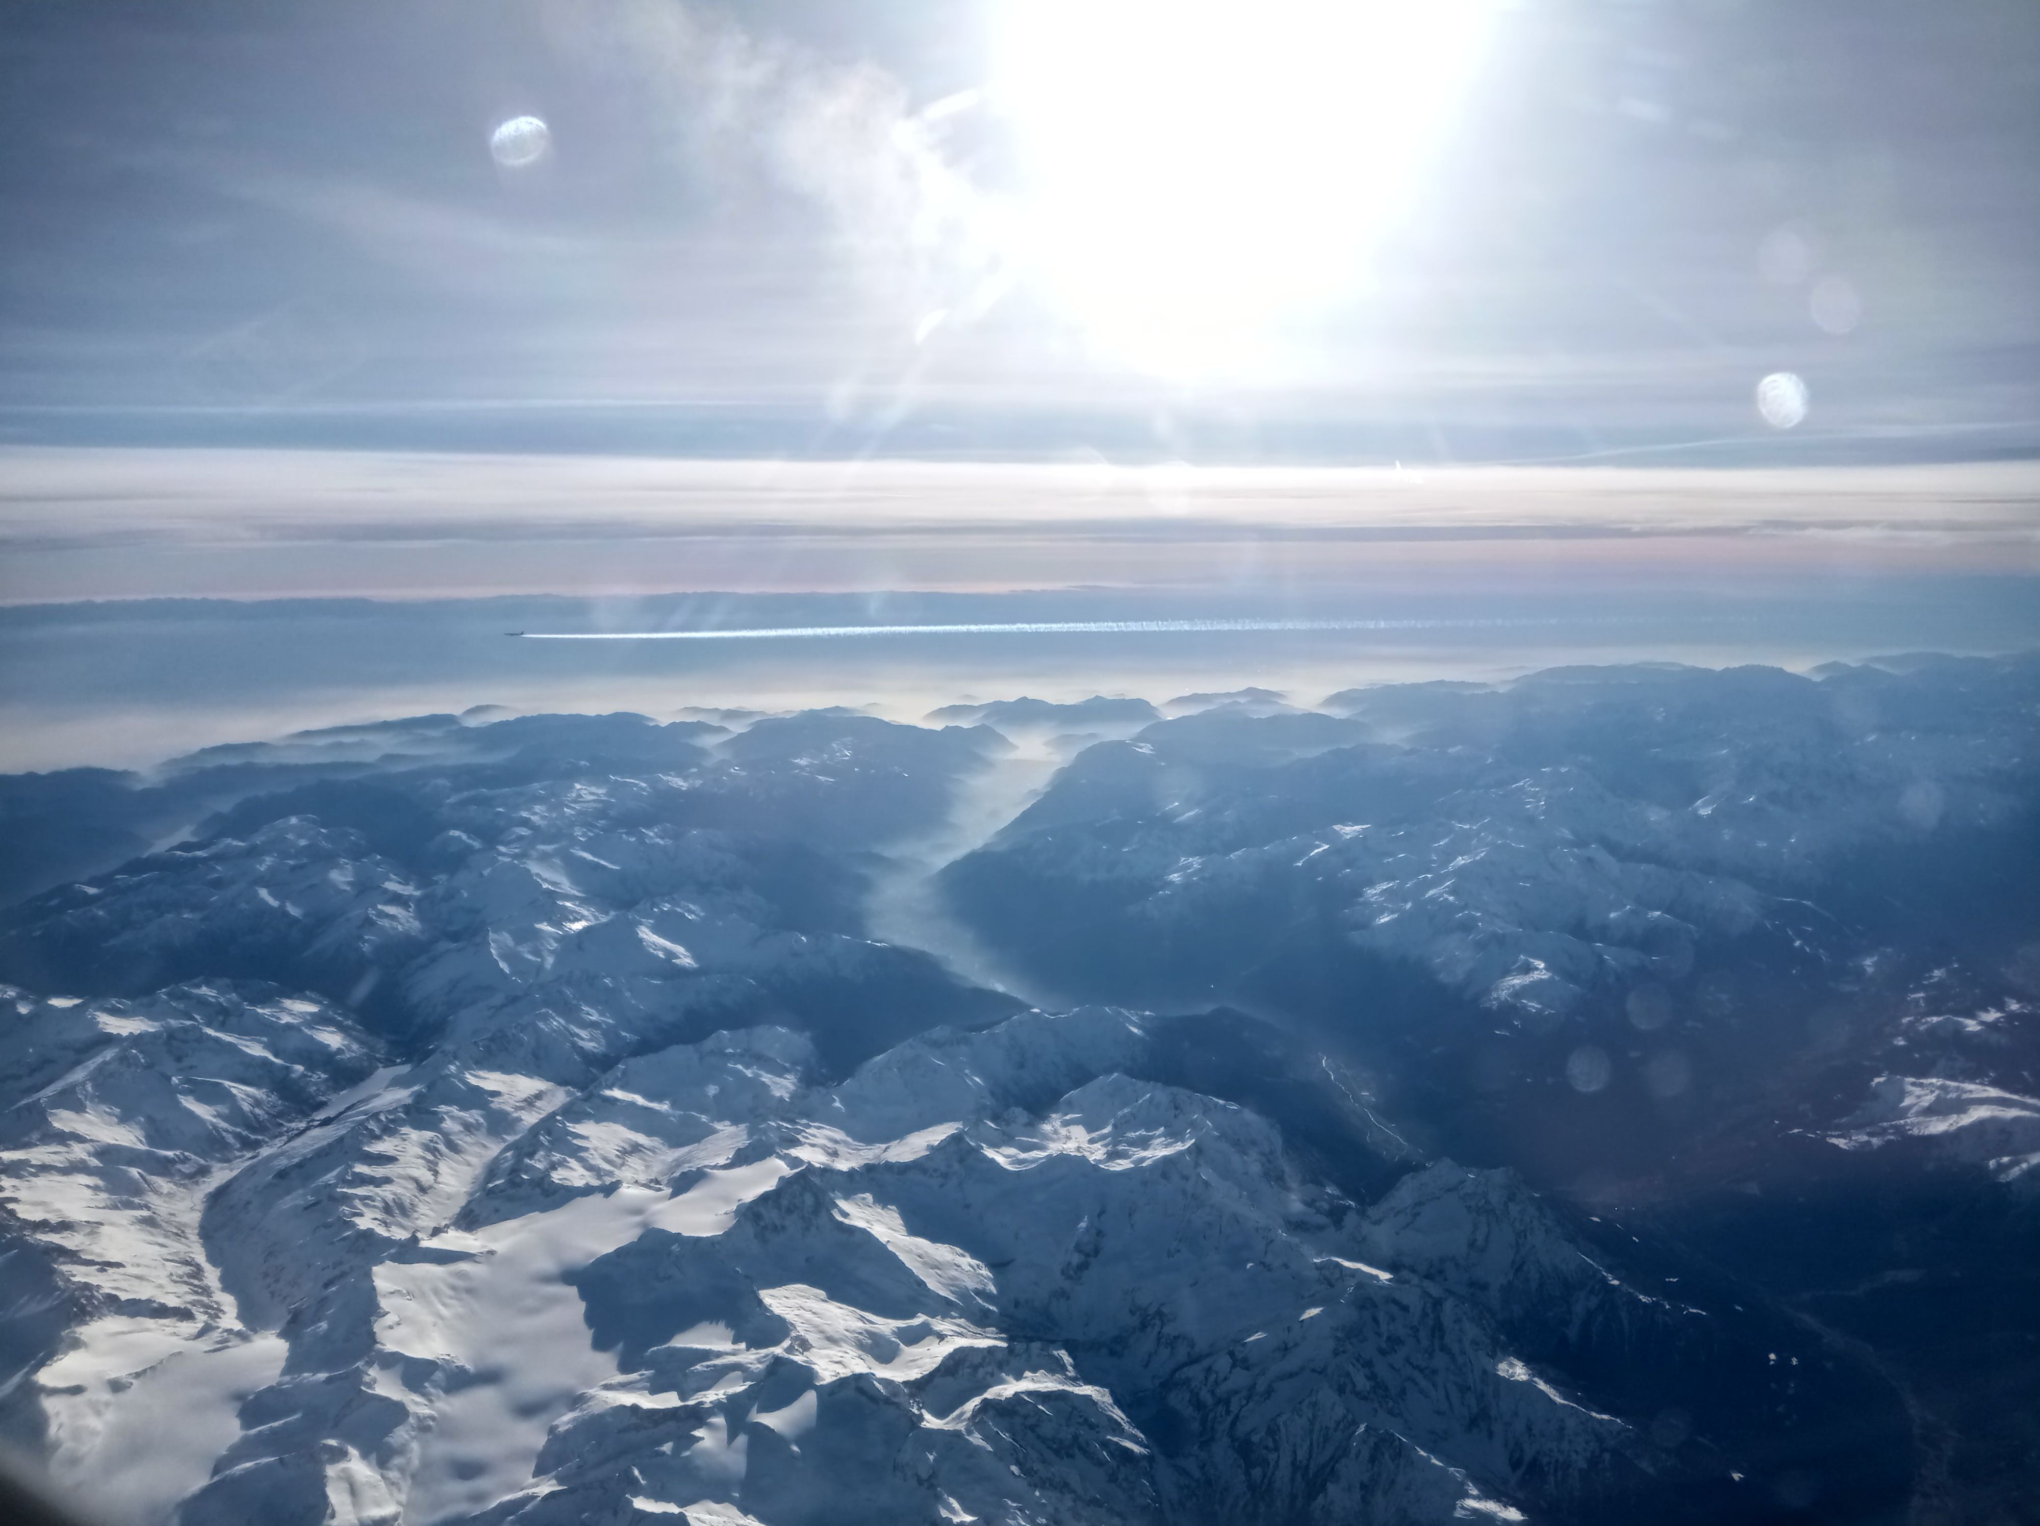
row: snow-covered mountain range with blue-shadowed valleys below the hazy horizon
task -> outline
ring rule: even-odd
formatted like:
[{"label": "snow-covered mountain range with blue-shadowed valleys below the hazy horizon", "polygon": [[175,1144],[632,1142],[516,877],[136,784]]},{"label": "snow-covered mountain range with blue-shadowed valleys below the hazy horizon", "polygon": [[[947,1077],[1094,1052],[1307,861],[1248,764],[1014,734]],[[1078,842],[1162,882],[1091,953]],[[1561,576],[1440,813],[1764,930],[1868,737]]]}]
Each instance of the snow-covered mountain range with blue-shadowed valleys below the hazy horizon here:
[{"label": "snow-covered mountain range with blue-shadowed valleys below the hazy horizon", "polygon": [[[2036,1477],[1950,1373],[2040,1334],[2040,663],[728,720],[0,781],[0,1424],[90,1518]],[[983,963],[873,936],[902,875]]]}]

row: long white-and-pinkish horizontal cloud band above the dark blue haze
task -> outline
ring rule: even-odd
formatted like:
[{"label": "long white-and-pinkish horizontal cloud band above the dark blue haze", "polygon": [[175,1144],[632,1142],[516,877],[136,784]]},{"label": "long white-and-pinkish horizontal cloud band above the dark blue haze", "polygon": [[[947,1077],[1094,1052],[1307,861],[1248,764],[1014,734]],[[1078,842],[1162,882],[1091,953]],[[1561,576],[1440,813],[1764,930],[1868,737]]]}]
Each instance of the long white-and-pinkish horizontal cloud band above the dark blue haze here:
[{"label": "long white-and-pinkish horizontal cloud band above the dark blue haze", "polygon": [[1204,469],[0,455],[0,602],[1448,588],[2040,571],[2034,467]]}]

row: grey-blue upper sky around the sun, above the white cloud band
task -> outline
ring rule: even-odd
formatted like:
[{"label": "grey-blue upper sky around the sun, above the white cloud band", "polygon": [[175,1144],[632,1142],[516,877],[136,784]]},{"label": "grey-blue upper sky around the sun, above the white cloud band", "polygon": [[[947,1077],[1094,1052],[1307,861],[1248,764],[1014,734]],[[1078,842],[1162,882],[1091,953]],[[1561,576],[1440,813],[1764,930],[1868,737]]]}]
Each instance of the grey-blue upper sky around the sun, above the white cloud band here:
[{"label": "grey-blue upper sky around the sun, above the white cloud band", "polygon": [[27,0],[0,122],[16,443],[1816,465],[2040,420],[2026,0]]}]

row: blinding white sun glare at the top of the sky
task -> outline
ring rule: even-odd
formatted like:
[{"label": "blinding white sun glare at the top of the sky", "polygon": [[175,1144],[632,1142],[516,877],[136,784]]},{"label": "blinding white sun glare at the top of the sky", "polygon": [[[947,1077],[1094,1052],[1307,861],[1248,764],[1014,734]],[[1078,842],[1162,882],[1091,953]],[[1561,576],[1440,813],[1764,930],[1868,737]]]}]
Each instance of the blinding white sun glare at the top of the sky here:
[{"label": "blinding white sun glare at the top of the sky", "polygon": [[1232,365],[1365,271],[1493,0],[1008,0],[1024,265],[1098,343]]}]

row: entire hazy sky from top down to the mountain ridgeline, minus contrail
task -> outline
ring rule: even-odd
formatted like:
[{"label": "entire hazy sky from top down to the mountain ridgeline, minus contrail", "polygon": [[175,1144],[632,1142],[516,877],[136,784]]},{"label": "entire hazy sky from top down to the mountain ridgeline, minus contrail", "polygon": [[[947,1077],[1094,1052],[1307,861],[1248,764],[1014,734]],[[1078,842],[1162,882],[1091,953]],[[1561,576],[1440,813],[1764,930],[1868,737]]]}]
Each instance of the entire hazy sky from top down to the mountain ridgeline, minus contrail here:
[{"label": "entire hazy sky from top down to the mountain ridgeline, minus contrail", "polygon": [[2036,645],[2036,233],[2030,0],[22,0],[0,767]]}]

